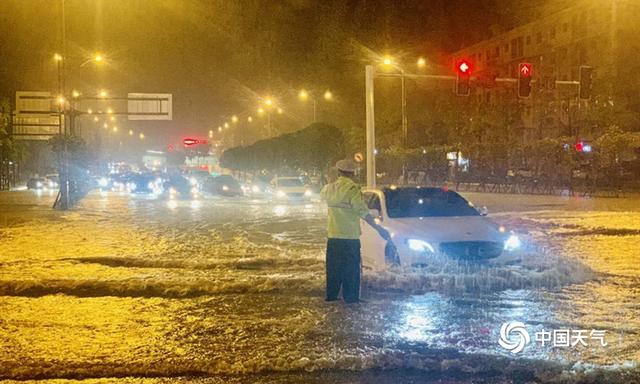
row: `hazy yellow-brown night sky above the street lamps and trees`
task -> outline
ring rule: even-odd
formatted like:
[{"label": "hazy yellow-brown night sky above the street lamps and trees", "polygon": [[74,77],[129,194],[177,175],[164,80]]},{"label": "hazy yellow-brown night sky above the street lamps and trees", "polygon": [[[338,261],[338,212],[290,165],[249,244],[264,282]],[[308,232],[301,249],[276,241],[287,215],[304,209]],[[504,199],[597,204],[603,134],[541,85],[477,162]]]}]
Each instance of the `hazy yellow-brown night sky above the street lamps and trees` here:
[{"label": "hazy yellow-brown night sky above the street lamps and trees", "polygon": [[[509,27],[543,11],[533,3],[66,0],[67,88],[172,93],[174,120],[144,123],[160,144],[300,87],[330,88],[357,104],[369,50],[437,64],[492,24]],[[0,2],[0,96],[56,89],[60,25],[58,0]],[[106,65],[81,67],[95,51]]]}]

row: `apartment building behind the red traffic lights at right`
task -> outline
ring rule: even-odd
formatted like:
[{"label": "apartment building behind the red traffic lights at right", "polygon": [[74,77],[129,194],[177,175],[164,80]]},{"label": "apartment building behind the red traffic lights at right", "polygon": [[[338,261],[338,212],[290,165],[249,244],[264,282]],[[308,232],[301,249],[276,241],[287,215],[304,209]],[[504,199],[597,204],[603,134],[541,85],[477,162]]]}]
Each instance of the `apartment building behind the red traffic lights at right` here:
[{"label": "apartment building behind the red traffic lights at right", "polygon": [[595,94],[632,98],[629,81],[640,89],[640,65],[635,62],[640,60],[638,11],[637,0],[578,0],[510,30],[494,27],[492,37],[454,52],[452,58],[472,63],[477,80],[470,97],[487,104],[517,97],[517,84],[496,83],[494,78],[517,78],[520,63],[533,64],[532,94],[520,100],[525,140],[589,135],[588,130],[571,127],[576,109],[588,108],[589,102],[577,98],[577,85],[556,81],[578,81],[580,66],[591,66]]}]

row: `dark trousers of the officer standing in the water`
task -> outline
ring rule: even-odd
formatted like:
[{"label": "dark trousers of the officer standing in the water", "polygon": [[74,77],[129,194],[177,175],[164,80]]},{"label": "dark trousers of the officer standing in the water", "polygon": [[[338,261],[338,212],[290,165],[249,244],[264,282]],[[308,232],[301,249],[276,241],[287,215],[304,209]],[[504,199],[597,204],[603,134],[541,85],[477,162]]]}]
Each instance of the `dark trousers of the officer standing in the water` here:
[{"label": "dark trousers of the officer standing in the water", "polygon": [[327,300],[336,300],[342,287],[347,303],[360,299],[360,240],[327,241]]}]

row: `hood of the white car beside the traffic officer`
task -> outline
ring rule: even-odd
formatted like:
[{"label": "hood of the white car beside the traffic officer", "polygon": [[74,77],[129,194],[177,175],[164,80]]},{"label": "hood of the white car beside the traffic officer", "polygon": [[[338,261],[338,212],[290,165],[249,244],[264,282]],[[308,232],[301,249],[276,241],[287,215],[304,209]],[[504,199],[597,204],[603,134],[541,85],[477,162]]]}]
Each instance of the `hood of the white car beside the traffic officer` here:
[{"label": "hood of the white car beside the traffic officer", "polygon": [[398,218],[387,219],[383,225],[395,236],[436,243],[504,240],[498,225],[484,216]]}]

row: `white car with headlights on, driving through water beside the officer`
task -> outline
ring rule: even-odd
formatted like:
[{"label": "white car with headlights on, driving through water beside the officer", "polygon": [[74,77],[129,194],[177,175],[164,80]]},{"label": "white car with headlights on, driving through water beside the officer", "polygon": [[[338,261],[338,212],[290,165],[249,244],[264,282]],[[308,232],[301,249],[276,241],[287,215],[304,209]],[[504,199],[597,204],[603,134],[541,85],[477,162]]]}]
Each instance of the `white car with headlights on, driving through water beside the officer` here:
[{"label": "white car with headlights on, driving through water beside the officer", "polygon": [[[369,212],[391,234],[385,241],[361,220],[365,266],[426,265],[447,255],[480,260],[520,247],[520,240],[454,191],[443,188],[389,187],[363,191]],[[486,211],[486,209],[485,209]]]}]

